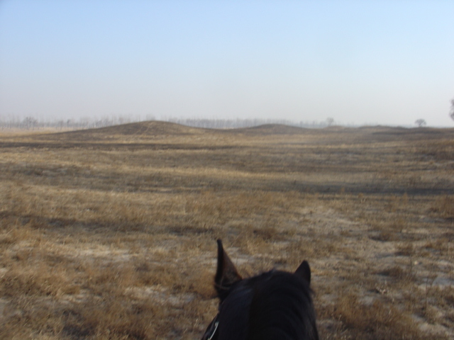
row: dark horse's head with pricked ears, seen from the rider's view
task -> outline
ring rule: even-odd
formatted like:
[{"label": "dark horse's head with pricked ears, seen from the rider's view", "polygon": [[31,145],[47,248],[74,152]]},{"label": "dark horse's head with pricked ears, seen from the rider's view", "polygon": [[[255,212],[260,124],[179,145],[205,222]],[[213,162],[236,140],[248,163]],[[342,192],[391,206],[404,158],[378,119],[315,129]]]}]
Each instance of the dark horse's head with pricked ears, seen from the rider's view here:
[{"label": "dark horse's head with pricked ears, seen from the rider's view", "polygon": [[294,273],[273,270],[243,279],[218,240],[219,312],[202,340],[318,340],[310,283],[307,261]]}]

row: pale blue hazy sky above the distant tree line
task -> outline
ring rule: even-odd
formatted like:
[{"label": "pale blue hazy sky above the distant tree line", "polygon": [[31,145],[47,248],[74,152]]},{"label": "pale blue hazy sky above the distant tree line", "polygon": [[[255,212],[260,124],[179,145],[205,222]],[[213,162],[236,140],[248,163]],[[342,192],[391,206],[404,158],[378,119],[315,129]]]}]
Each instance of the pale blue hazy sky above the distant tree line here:
[{"label": "pale blue hazy sky above the distant tree line", "polygon": [[0,1],[0,118],[454,126],[454,1]]}]

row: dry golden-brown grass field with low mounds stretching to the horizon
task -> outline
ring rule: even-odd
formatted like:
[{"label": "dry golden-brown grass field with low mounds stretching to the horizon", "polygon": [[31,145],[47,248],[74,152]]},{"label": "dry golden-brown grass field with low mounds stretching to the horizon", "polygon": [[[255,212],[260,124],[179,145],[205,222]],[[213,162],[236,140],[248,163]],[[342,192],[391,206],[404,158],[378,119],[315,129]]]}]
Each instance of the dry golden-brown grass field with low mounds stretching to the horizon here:
[{"label": "dry golden-brown grass field with low mounds stretching to the horizon", "polygon": [[454,130],[0,135],[0,339],[200,339],[218,238],[307,259],[321,339],[454,339]]}]

